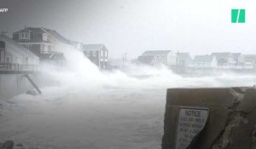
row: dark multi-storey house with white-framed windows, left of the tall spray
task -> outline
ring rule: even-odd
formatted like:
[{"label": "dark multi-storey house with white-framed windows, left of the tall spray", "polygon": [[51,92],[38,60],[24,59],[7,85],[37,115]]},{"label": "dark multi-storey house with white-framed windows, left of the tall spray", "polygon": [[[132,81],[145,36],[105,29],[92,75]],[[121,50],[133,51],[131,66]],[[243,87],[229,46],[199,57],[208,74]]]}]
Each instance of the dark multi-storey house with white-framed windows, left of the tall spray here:
[{"label": "dark multi-storey house with white-framed windows, left of the tall spray", "polygon": [[[20,37],[22,33],[28,33],[27,39]],[[24,36],[23,36],[24,38]],[[72,42],[62,37],[58,32],[40,27],[26,27],[19,32],[13,33],[13,40],[38,55],[42,63],[58,65],[66,64],[62,51],[54,51],[57,43],[73,46]],[[61,49],[60,49],[61,50]],[[53,55],[51,57],[48,57]],[[61,61],[61,62],[60,62]]]}]

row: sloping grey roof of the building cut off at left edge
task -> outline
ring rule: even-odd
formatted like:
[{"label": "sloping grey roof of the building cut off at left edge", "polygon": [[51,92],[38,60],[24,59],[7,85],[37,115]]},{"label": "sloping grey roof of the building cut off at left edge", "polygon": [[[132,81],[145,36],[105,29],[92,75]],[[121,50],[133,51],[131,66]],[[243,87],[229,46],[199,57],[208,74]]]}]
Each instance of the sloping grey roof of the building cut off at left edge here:
[{"label": "sloping grey roof of the building cut off at left edge", "polygon": [[5,42],[6,51],[9,54],[12,54],[18,57],[22,55],[22,56],[26,56],[33,59],[38,59],[37,55],[30,52],[28,49],[22,47],[20,44],[16,43],[11,38],[0,34],[0,40]]}]

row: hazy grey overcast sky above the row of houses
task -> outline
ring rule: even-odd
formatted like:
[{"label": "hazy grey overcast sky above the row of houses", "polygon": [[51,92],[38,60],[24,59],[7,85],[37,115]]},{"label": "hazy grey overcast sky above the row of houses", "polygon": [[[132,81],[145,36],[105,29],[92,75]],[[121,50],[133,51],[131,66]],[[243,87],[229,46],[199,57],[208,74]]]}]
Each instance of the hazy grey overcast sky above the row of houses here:
[{"label": "hazy grey overcast sky above the row of houses", "polygon": [[[104,43],[111,57],[145,50],[256,54],[255,0],[0,0],[0,31],[46,27],[83,43]],[[246,9],[231,24],[231,9]]]}]

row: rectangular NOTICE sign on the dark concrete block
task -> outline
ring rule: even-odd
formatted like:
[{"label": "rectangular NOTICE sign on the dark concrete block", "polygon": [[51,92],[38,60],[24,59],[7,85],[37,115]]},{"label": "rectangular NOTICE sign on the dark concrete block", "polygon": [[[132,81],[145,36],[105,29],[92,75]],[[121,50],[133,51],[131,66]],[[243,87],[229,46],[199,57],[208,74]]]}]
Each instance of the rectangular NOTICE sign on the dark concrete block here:
[{"label": "rectangular NOTICE sign on the dark concrete block", "polygon": [[207,123],[208,108],[179,109],[175,149],[186,149]]}]

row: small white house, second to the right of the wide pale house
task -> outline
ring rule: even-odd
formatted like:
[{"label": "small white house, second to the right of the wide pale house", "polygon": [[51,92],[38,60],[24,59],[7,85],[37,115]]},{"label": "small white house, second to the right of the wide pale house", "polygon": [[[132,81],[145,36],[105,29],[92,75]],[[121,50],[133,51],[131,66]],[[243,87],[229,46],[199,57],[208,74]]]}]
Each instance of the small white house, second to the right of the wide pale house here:
[{"label": "small white house, second to the right of the wide pale house", "polygon": [[214,55],[196,55],[194,66],[196,67],[216,67],[217,59]]}]

